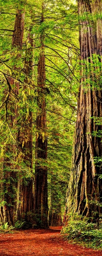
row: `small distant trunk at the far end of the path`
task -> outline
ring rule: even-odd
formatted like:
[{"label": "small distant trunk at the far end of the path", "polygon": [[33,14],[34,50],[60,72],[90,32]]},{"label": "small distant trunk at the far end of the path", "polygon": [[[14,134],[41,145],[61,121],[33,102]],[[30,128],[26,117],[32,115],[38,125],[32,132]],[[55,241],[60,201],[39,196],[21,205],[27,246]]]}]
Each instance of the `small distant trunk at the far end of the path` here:
[{"label": "small distant trunk at the far end of the path", "polygon": [[54,180],[51,180],[51,205],[49,210],[49,226],[62,226],[61,202],[57,193],[56,182]]}]

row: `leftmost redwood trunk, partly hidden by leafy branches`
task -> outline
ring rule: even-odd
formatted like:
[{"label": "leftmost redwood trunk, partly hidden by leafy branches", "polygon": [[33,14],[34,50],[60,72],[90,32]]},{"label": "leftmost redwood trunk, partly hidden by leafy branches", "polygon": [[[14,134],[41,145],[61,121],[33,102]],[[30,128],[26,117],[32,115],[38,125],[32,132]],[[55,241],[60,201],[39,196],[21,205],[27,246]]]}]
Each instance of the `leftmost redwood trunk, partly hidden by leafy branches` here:
[{"label": "leftmost redwood trunk, partly hidden by leafy branches", "polygon": [[[23,32],[24,32],[24,13],[22,11],[17,9],[16,13],[16,19],[15,19],[15,25],[14,25],[14,32],[13,32],[13,38],[12,38],[12,48],[17,47],[18,52],[17,56],[15,57],[15,53],[11,55],[11,58],[14,58],[14,69],[16,69],[16,62],[17,59],[20,58],[20,51],[22,48],[22,39],[23,39]],[[7,85],[9,87],[8,90],[8,97],[6,101],[6,122],[10,129],[12,130],[14,127],[14,124],[17,122],[17,108],[14,107],[13,99],[16,95],[19,93],[19,83],[16,82],[12,78],[12,75],[6,77]],[[11,90],[11,88],[14,91]],[[12,94],[11,94],[12,92]],[[6,91],[5,91],[6,94]],[[12,114],[13,113],[13,114]],[[2,223],[8,222],[8,224],[14,225],[14,206],[15,206],[15,189],[16,189],[16,181],[15,181],[15,172],[14,172],[14,166],[13,161],[15,155],[15,143],[12,139],[10,142],[10,138],[7,141],[6,149],[4,152],[4,157],[2,159],[2,166],[1,166],[1,208],[0,208],[0,221]]]}]

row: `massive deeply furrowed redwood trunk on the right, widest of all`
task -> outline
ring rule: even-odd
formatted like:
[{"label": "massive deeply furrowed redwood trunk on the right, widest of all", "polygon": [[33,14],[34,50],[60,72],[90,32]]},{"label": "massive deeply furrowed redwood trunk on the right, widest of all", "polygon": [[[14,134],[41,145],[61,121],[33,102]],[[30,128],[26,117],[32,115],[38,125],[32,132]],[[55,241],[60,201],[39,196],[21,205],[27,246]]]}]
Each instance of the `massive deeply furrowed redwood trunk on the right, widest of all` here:
[{"label": "massive deeply furrowed redwood trunk on the right, widest of all", "polygon": [[101,126],[91,118],[102,117],[102,0],[79,0],[78,13],[81,81],[64,225],[70,213],[94,217],[94,221],[102,213],[102,171],[94,161],[102,156],[101,138],[95,134]]}]

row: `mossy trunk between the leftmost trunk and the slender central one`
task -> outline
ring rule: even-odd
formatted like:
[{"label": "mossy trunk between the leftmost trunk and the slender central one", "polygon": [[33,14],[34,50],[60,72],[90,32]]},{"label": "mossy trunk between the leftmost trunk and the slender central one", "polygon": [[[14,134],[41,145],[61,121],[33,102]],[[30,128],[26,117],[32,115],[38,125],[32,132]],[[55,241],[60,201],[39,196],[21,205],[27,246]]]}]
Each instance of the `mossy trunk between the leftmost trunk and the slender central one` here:
[{"label": "mossy trunk between the leftmost trunk and the slender central one", "polygon": [[[28,84],[28,76],[32,78],[33,75],[33,39],[30,34],[28,36],[26,50],[26,58],[25,58],[25,68],[24,73],[27,74],[27,78],[25,79],[25,83]],[[25,97],[30,95],[29,87],[27,85],[23,88]],[[23,115],[23,124],[20,128],[17,140],[19,142],[20,154],[22,152],[21,161],[23,165],[23,171],[20,173],[21,178],[18,177],[18,192],[17,192],[17,219],[21,220],[26,219],[26,221],[30,221],[30,211],[34,209],[34,198],[33,198],[33,178],[32,178],[32,111],[30,107],[26,105],[26,113]],[[25,111],[25,106],[24,106]],[[27,178],[28,173],[28,178]],[[18,175],[19,176],[19,175]],[[25,177],[24,177],[25,176]],[[27,216],[28,214],[28,216]]]}]

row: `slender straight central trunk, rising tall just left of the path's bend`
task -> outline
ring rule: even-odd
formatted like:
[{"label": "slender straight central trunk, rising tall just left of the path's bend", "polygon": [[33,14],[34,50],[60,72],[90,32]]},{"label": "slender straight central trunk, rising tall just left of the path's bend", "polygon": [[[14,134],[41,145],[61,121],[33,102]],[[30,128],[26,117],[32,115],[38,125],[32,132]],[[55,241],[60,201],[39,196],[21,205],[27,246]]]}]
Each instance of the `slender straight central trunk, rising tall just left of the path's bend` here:
[{"label": "slender straight central trunk, rising tall just left of the path's bend", "polygon": [[[44,8],[44,6],[43,6]],[[41,23],[44,22],[42,9]],[[47,185],[47,132],[46,132],[46,102],[45,102],[45,49],[44,34],[40,34],[40,54],[37,79],[37,118],[36,118],[36,166],[34,184],[34,212],[37,214],[39,227],[48,228],[48,185]],[[43,164],[42,164],[43,163]]]}]

